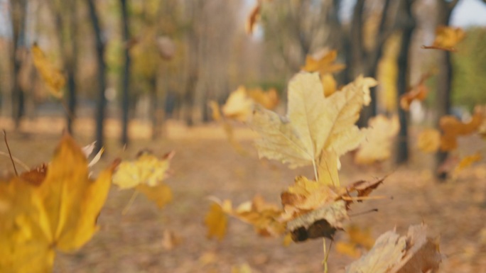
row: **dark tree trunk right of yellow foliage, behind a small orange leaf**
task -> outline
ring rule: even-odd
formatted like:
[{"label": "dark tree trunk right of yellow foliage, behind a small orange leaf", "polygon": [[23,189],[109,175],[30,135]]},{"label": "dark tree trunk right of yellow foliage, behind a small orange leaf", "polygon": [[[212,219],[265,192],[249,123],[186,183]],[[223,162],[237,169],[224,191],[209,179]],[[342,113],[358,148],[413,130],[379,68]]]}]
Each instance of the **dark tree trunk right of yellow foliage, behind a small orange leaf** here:
[{"label": "dark tree trunk right of yellow foliage, behind a small orange leaf", "polygon": [[[400,24],[402,26],[401,45],[397,62],[398,79],[396,81],[397,105],[400,105],[400,96],[409,89],[410,79],[410,50],[411,40],[416,26],[416,20],[412,13],[411,6],[414,0],[401,0]],[[398,108],[400,130],[396,143],[396,164],[403,164],[409,160],[409,115],[401,107]]]}]

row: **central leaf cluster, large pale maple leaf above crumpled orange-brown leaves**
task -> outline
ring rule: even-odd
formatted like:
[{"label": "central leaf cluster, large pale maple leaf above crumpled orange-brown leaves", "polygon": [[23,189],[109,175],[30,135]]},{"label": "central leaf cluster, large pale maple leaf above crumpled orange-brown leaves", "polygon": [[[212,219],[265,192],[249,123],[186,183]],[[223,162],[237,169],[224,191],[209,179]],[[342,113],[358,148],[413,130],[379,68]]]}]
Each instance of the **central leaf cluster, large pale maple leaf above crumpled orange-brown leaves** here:
[{"label": "central leaf cluster, large pale maple leaf above crumpled orange-brown leaves", "polygon": [[319,74],[301,72],[288,86],[287,116],[254,104],[248,123],[261,135],[255,143],[259,156],[290,167],[313,165],[315,179],[296,177],[281,194],[281,208],[260,196],[237,208],[229,200],[216,199],[205,219],[208,237],[223,238],[225,216],[233,216],[254,225],[260,235],[290,233],[296,242],[333,238],[348,218],[350,204],[365,199],[383,182],[340,186],[338,177],[339,157],[359,147],[367,136],[368,130],[357,128],[355,122],[362,106],[369,104],[369,87],[375,84],[374,79],[358,77],[325,96]]}]

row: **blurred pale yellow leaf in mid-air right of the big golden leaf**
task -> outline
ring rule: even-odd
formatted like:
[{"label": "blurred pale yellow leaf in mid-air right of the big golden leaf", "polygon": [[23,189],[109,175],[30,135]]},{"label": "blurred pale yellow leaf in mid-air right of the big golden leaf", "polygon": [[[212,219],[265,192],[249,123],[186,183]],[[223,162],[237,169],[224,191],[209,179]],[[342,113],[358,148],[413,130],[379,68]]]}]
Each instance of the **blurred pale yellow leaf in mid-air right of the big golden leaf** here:
[{"label": "blurred pale yellow leaf in mid-air right of the big golden leaf", "polygon": [[141,152],[136,160],[121,161],[113,174],[112,182],[120,189],[135,188],[163,208],[172,201],[172,191],[163,179],[167,177],[170,161],[175,153],[169,152],[158,159],[149,152]]}]

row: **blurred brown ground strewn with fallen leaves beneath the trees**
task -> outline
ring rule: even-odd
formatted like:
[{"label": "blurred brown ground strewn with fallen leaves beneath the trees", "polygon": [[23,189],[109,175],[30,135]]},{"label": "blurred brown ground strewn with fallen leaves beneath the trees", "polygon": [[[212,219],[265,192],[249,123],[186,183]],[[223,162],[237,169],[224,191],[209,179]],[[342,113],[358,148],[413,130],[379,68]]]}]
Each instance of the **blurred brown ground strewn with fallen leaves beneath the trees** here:
[{"label": "blurred brown ground strewn with fallen leaves beneath the trees", "polygon": [[[9,129],[11,125],[0,121],[0,126]],[[9,133],[9,144],[13,155],[32,167],[49,160],[60,133],[35,133],[28,127],[23,127],[24,133]],[[58,126],[51,124],[52,128],[57,130]],[[281,191],[293,183],[293,177],[312,177],[312,169],[288,169],[279,162],[258,160],[252,145],[254,134],[245,129],[237,130],[235,135],[247,155],[237,153],[216,125],[188,129],[170,123],[166,128],[168,138],[151,141],[144,139],[146,135],[136,135],[137,139],[125,151],[112,138],[117,130],[113,132],[97,168],[106,167],[116,157],[130,158],[146,147],[156,155],[175,150],[171,177],[166,180],[173,189],[174,201],[159,210],[140,195],[122,214],[133,192],[113,188],[99,217],[99,233],[80,251],[59,253],[55,272],[216,273],[231,272],[232,266],[241,264],[249,264],[254,273],[323,272],[322,240],[284,247],[281,239],[260,238],[251,226],[230,219],[226,238],[217,242],[205,238],[203,225],[210,206],[208,196],[232,199],[239,204],[261,194],[278,203]],[[81,145],[92,141],[89,135],[89,130],[78,124],[77,140]],[[352,206],[353,212],[370,208],[379,211],[352,217],[350,223],[371,228],[374,238],[393,228],[404,234],[409,225],[426,223],[430,234],[440,237],[444,255],[441,272],[486,272],[485,162],[465,169],[454,180],[438,184],[430,171],[431,161],[431,156],[416,149],[412,150],[411,163],[397,169],[387,163],[359,167],[350,156],[343,158],[342,184],[392,173],[374,192],[387,196],[386,199]],[[0,162],[3,169],[11,168],[7,157]],[[175,233],[180,244],[167,250],[164,230]],[[345,238],[341,232],[335,239]],[[331,250],[329,272],[344,272],[352,260]]]}]

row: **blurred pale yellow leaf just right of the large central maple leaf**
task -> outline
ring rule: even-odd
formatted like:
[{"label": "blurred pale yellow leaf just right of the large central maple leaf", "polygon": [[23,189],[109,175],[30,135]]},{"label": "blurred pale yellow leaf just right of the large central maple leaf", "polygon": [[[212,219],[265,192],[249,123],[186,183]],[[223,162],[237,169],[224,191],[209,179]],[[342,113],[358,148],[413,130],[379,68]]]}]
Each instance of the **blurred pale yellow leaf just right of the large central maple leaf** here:
[{"label": "blurred pale yellow leaf just right of the large central maple leaf", "polygon": [[387,160],[392,154],[392,142],[399,132],[400,123],[398,116],[387,118],[379,115],[369,119],[368,128],[366,139],[355,155],[357,164]]}]

